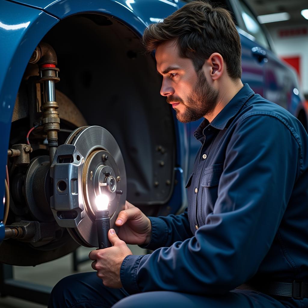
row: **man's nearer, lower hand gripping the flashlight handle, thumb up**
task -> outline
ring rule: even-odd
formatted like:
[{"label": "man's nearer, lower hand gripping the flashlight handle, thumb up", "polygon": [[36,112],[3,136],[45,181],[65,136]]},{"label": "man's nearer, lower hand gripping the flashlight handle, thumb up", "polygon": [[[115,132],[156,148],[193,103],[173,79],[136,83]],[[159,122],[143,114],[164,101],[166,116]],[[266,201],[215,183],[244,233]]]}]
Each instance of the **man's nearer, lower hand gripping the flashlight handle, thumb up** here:
[{"label": "man's nearer, lower hand gripping the flashlight handle, thumb up", "polygon": [[132,254],[124,241],[116,235],[114,229],[108,232],[108,238],[113,247],[92,250],[89,258],[93,260],[92,269],[97,270],[97,277],[103,280],[103,284],[109,288],[121,288],[120,268],[124,258]]}]

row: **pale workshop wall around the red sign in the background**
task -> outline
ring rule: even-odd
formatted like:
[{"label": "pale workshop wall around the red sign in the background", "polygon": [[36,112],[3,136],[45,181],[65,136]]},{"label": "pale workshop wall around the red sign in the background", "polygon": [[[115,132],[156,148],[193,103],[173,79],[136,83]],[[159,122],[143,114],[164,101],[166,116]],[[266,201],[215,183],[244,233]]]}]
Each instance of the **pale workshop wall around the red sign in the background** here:
[{"label": "pale workshop wall around the red sign in the background", "polygon": [[280,37],[279,30],[308,28],[306,25],[275,27],[267,24],[279,57],[300,57],[300,85],[304,94],[308,95],[308,35]]}]

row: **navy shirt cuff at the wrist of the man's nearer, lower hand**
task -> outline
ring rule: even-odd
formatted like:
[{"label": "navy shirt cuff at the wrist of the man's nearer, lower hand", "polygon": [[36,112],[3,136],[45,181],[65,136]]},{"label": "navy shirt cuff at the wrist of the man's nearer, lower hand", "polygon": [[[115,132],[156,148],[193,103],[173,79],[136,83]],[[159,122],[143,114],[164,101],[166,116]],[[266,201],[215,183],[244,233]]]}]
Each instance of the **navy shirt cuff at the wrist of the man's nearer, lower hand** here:
[{"label": "navy shirt cuff at the wrist of the man's nearer, lower hand", "polygon": [[120,268],[120,279],[123,288],[129,294],[141,292],[137,285],[137,269],[142,257],[144,256],[128,255],[122,262]]}]

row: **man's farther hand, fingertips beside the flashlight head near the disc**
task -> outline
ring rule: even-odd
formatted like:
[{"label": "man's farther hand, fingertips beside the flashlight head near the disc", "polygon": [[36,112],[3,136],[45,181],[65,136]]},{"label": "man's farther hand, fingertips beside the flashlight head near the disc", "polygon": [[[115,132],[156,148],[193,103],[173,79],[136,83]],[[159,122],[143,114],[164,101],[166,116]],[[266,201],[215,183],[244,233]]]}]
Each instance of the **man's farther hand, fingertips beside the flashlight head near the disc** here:
[{"label": "man's farther hand, fingertips beside the flashlight head near the disc", "polygon": [[125,209],[119,213],[115,224],[120,227],[118,235],[125,243],[146,245],[150,242],[151,221],[128,201],[125,203]]}]

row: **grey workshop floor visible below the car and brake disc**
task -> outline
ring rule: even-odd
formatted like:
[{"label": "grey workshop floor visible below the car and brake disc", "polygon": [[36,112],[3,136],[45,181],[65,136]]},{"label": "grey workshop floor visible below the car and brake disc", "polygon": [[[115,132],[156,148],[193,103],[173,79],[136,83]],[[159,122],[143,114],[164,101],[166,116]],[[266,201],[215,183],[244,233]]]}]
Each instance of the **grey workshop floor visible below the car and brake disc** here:
[{"label": "grey workshop floor visible below the car and brake disc", "polygon": [[[135,255],[145,254],[145,249],[136,245],[128,245]],[[79,247],[78,258],[87,257],[92,248]],[[73,257],[69,254],[58,260],[47,262],[45,264],[29,266],[14,266],[14,278],[26,282],[41,284],[53,287],[60,279],[75,273],[93,271],[91,260],[85,261],[79,265],[78,272],[73,271]],[[46,308],[47,306],[24,301],[14,297],[0,298],[1,308]]]}]

